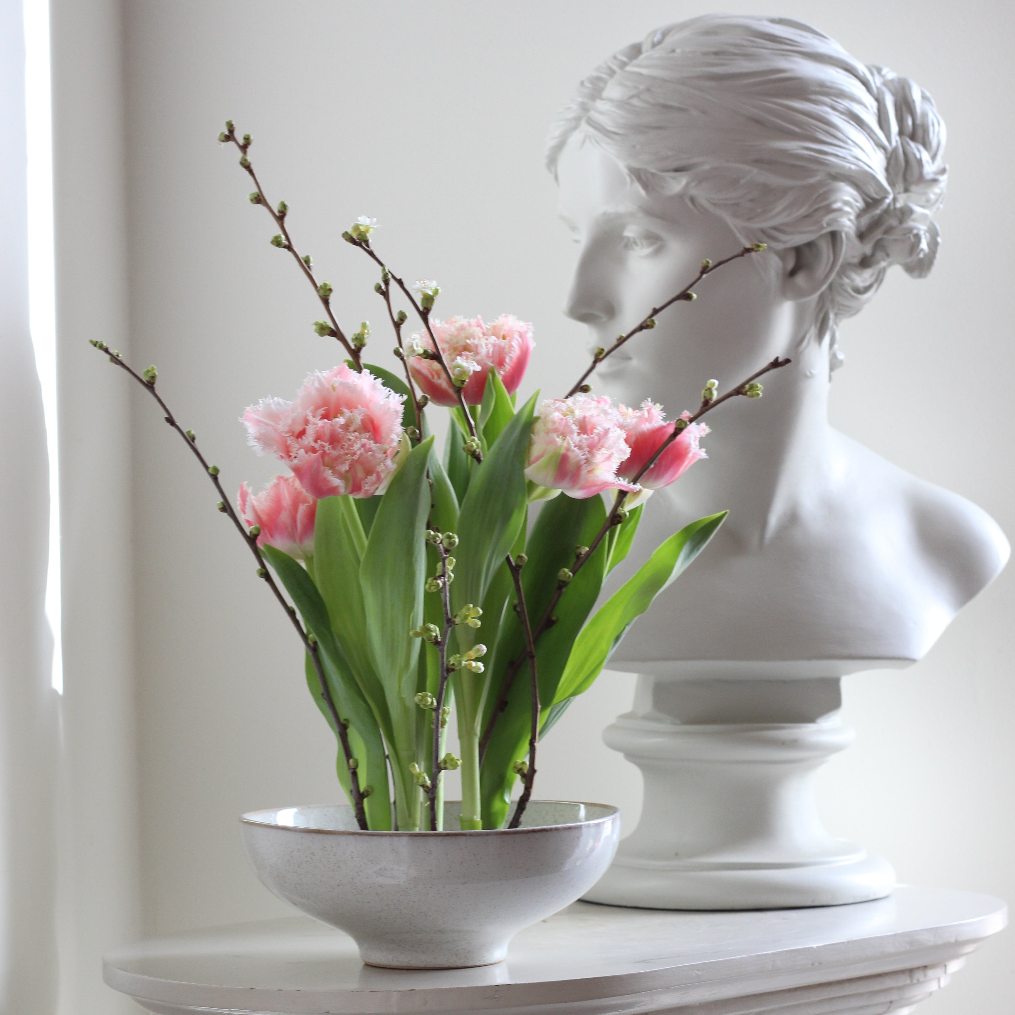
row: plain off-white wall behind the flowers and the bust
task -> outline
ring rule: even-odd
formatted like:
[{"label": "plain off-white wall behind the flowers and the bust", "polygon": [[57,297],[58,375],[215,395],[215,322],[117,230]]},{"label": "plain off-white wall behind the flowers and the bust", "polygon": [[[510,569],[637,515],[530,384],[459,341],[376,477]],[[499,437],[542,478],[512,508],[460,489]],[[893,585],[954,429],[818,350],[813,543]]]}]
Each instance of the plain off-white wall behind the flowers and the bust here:
[{"label": "plain off-white wall behind the flowers and the bust", "polygon": [[[584,335],[560,313],[572,249],[542,168],[546,128],[600,59],[709,6],[128,0],[132,355],[158,365],[160,388],[226,486],[271,472],[245,446],[242,409],[339,359],[312,333],[316,302],[268,245],[273,229],[247,202],[235,153],[215,143],[226,117],[255,135],[268,194],[288,201],[297,243],[335,284],[344,321],[381,320],[373,272],[339,240],[355,215],[377,215],[379,245],[406,275],[441,281],[446,313],[535,322],[528,388],[552,392],[584,356]],[[847,326],[834,420],[980,503],[1011,535],[1004,185],[1015,155],[1015,14],[988,0],[784,0],[779,12],[916,78],[950,132],[939,264],[929,281],[889,278]],[[80,364],[92,392],[112,390],[104,366]],[[132,397],[144,928],[280,913],[248,870],[235,817],[335,799],[332,738],[302,686],[298,646],[207,480],[141,393]],[[106,439],[108,424],[91,425]],[[859,737],[828,767],[826,819],[889,857],[904,881],[1015,898],[1013,590],[1004,576],[910,671],[848,681]],[[620,801],[633,823],[636,771],[599,741],[630,687],[607,674],[568,713],[546,742],[541,795]],[[991,943],[922,1010],[1002,1015],[1013,957],[1015,937]]]}]

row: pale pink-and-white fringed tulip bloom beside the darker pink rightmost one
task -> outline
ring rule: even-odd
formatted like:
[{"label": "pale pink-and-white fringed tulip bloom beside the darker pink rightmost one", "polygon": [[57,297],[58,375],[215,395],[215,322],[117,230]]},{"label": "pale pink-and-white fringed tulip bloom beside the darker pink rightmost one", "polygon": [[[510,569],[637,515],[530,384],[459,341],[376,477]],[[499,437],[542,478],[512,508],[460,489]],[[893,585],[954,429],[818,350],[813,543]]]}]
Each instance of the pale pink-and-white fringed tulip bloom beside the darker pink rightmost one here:
[{"label": "pale pink-and-white fringed tulip bloom beside the darker pink rightmost one", "polygon": [[617,477],[630,455],[620,412],[610,399],[572,395],[540,406],[529,442],[526,478],[584,499],[604,490],[640,489]]}]

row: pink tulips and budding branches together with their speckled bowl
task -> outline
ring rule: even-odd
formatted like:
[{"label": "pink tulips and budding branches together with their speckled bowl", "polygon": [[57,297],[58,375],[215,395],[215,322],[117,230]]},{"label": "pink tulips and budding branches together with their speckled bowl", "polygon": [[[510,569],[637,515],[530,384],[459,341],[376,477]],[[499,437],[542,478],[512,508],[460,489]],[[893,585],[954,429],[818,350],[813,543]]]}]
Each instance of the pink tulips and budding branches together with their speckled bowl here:
[{"label": "pink tulips and budding branches together with their speckled bowl", "polygon": [[[245,815],[248,853],[271,890],[347,930],[365,961],[497,961],[514,933],[598,880],[619,834],[616,808],[532,800],[540,737],[725,515],[675,533],[593,612],[603,583],[652,491],[704,457],[701,417],[760,397],[758,379],[789,360],[725,394],[708,381],[697,408],[673,420],[648,401],[628,408],[593,395],[590,378],[659,314],[694,299],[707,275],[763,245],[703,261],[598,349],[563,397],[519,405],[531,326],[511,315],[439,320],[437,284],[404,282],[375,248],[376,220],[360,217],[343,239],[378,268],[403,375],[365,363],[368,324],[351,334],[339,324],[332,286],[293,244],[288,207],[265,195],[250,135],[229,122],[219,141],[239,149],[250,200],[279,230],[272,245],[314,287],[325,315],[315,330],[345,354],[292,401],[266,398],[243,415],[255,451],[287,471],[260,493],[243,484],[233,506],[157,390],[156,368],[136,371],[93,344],[155,399],[210,477],[300,638],[308,686],[338,741],[348,805]],[[432,407],[451,417],[443,453]],[[453,716],[458,756],[447,744]],[[444,800],[450,769],[461,771],[461,802]]]}]

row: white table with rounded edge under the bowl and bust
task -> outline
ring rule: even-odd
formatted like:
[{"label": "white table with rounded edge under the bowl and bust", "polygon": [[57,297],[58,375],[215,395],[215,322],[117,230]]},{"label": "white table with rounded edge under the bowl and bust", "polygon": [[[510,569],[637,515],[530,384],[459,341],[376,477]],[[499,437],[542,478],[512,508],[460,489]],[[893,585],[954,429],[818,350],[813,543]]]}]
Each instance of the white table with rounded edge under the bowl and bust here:
[{"label": "white table with rounded edge under the bowl and bust", "polygon": [[476,969],[364,966],[306,917],[194,931],[107,956],[106,982],[160,1015],[902,1015],[1007,923],[999,899],[900,887],[814,909],[666,912],[576,902]]}]

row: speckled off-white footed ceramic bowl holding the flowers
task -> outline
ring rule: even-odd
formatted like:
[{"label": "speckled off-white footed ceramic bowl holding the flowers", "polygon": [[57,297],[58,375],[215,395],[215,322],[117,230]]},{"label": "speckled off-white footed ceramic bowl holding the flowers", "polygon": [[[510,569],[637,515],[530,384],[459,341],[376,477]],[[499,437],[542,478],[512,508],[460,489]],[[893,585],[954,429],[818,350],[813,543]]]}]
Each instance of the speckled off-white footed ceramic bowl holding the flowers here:
[{"label": "speckled off-white footed ceramic bowl holding the flowers", "polygon": [[[458,824],[460,804],[445,804]],[[620,812],[534,800],[521,828],[360,831],[348,805],[245,814],[244,844],[279,898],[349,934],[369,965],[499,962],[523,928],[585,894],[613,860]]]}]

